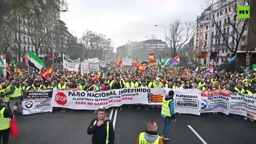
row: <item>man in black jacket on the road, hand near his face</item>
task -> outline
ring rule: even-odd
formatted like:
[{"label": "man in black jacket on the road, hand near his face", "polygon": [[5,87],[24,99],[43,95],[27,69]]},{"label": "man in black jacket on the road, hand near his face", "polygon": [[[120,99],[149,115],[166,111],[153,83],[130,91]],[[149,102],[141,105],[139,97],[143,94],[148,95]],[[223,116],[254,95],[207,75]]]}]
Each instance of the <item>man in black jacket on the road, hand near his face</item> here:
[{"label": "man in black jacket on the road, hand near his face", "polygon": [[92,144],[114,144],[114,127],[107,117],[105,108],[101,107],[98,109],[98,117],[92,119],[87,133],[92,135]]}]

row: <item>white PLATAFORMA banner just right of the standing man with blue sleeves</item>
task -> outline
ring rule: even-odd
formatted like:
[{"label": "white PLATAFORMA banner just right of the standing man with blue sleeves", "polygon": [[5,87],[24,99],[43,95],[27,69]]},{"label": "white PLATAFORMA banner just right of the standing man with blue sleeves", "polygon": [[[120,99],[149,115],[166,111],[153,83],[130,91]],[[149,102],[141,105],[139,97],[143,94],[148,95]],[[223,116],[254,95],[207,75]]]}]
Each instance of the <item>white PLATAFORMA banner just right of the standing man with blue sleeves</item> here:
[{"label": "white PLATAFORMA banner just right of the standing man with blue sleeves", "polygon": [[[166,92],[171,89],[166,88]],[[201,91],[195,89],[174,89],[175,112],[181,114],[200,115],[201,113]]]}]

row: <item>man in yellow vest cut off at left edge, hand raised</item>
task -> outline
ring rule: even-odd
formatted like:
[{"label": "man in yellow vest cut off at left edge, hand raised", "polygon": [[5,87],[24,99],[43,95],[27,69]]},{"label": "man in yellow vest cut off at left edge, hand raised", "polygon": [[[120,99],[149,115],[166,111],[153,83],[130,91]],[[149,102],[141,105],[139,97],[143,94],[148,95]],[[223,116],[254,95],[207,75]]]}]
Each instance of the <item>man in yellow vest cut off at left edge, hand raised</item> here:
[{"label": "man in yellow vest cut off at left edge, hand raised", "polygon": [[[3,98],[0,98],[0,138],[3,139],[3,144],[7,144],[10,134],[10,122],[13,115],[17,115],[17,106],[13,106],[13,114],[6,107]],[[0,139],[1,143],[1,139]]]}]

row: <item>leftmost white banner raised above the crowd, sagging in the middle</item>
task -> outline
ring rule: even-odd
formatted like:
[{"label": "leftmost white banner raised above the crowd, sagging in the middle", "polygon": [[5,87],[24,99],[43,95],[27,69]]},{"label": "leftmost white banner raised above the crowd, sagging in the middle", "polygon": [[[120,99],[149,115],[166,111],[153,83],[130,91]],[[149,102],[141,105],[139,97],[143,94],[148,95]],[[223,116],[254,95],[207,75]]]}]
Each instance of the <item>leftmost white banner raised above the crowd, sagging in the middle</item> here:
[{"label": "leftmost white banner raised above the crowd, sagging in the middle", "polygon": [[65,54],[63,54],[63,68],[68,69],[68,71],[78,72],[79,62],[80,62],[80,58],[76,60],[71,60]]}]

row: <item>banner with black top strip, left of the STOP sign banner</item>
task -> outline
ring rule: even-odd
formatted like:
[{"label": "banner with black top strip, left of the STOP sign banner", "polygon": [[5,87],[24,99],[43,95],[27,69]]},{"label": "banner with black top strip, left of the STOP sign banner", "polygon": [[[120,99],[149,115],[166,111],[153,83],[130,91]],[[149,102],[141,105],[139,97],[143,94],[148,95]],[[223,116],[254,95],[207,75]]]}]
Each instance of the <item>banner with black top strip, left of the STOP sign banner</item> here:
[{"label": "banner with black top strip, left of the STOP sign banner", "polygon": [[51,100],[53,89],[36,89],[22,91],[22,114],[52,112]]}]

